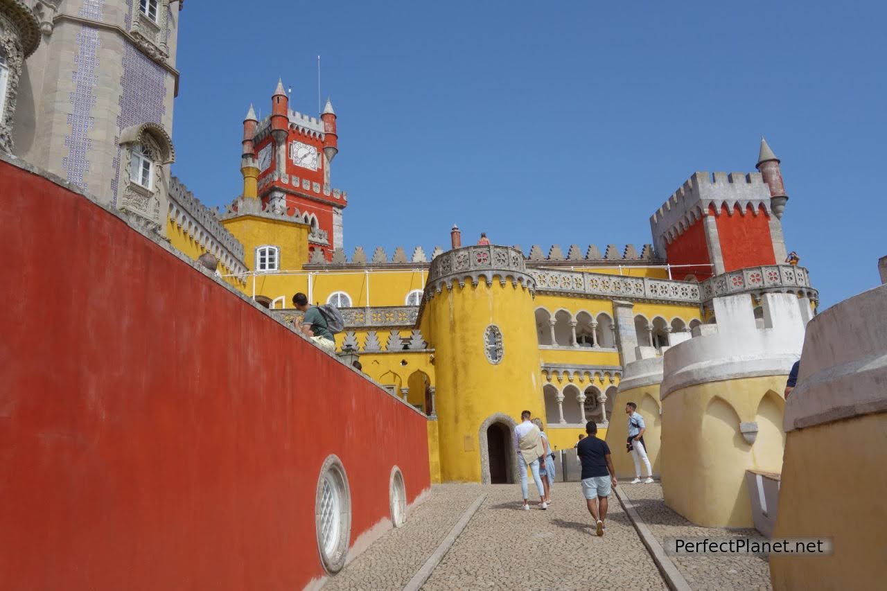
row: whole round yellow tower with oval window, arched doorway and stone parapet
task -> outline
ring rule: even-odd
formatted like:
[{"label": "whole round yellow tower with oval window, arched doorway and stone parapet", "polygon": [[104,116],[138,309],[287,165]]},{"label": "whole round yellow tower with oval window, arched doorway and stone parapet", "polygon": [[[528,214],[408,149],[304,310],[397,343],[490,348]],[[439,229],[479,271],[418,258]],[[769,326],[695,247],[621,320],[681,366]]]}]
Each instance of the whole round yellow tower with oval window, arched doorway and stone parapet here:
[{"label": "whole round yellow tower with oval window, arched doorway and stone parapet", "polygon": [[514,482],[514,424],[525,409],[545,414],[535,287],[514,248],[456,248],[431,263],[422,324],[436,350],[444,482]]}]

